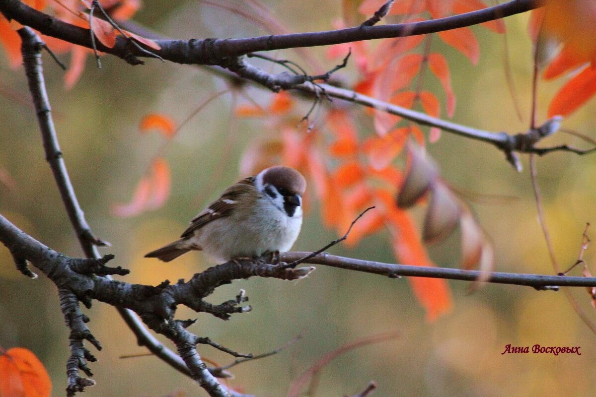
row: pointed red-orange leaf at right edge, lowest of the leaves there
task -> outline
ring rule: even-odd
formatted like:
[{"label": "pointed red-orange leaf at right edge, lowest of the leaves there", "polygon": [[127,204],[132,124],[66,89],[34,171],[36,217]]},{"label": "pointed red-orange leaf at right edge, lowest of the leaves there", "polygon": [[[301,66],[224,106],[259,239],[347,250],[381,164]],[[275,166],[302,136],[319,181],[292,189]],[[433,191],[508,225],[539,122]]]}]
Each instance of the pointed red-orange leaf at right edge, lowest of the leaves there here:
[{"label": "pointed red-orange leaf at right edge, lowest of the leaves there", "polygon": [[588,66],[557,92],[548,107],[548,117],[576,111],[596,93],[596,67]]}]

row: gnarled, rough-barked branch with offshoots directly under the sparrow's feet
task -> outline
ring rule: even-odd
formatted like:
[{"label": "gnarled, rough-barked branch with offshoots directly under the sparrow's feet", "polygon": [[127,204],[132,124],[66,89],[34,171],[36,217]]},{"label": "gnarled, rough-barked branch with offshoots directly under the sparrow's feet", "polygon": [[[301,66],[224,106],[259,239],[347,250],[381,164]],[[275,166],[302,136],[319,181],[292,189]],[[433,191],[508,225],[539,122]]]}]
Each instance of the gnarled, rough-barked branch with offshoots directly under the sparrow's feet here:
[{"label": "gnarled, rough-barked branch with offshoots directly under the sparrow's feet", "polygon": [[[97,260],[76,259],[60,254],[26,235],[2,215],[0,215],[0,242],[7,246],[15,257],[32,262],[58,286],[61,309],[67,325],[71,329],[72,355],[68,362],[69,395],[82,391],[84,386],[94,384],[92,380],[78,376],[79,369],[91,376],[86,361],[94,360],[90,352],[83,346],[83,340],[100,348],[99,342],[95,340],[86,326],[89,318],[80,312],[79,301],[90,306],[91,300],[96,299],[117,308],[134,310],[150,329],[169,337],[175,343],[194,380],[200,383],[210,395],[223,397],[228,396],[228,392],[201,361],[196,349],[197,343],[212,345],[236,357],[250,357],[250,355],[237,354],[208,338],[198,337],[188,332],[186,327],[193,321],[176,320],[174,318],[176,307],[183,304],[195,311],[221,317],[220,312],[211,312],[211,305],[207,305],[203,301],[203,298],[209,296],[216,287],[229,284],[235,279],[247,279],[253,276],[297,280],[308,276],[314,270],[313,267],[288,269],[269,264],[268,262],[273,258],[270,255],[259,260],[226,262],[211,267],[203,273],[195,274],[188,282],[180,280],[175,285],[169,285],[169,282],[166,281],[162,285],[153,287],[109,280],[106,277],[89,274],[87,271],[77,273],[75,270],[86,269],[88,266],[95,267]],[[241,293],[234,302],[241,304],[244,301],[246,298]],[[248,311],[246,308],[235,310],[235,305],[228,304],[226,307],[228,313]]]}]

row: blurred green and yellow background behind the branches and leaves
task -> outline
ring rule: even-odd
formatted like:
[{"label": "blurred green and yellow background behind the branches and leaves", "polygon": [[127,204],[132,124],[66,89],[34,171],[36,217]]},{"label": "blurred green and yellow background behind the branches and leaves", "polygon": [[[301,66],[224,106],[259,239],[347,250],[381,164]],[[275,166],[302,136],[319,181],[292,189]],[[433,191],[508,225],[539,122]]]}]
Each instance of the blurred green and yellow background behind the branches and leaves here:
[{"label": "blurred green and yellow background behind the branches and leaves", "polygon": [[[269,5],[295,32],[331,29],[331,20],[340,16],[340,1],[270,1]],[[316,12],[305,11],[315,8]],[[247,18],[201,2],[151,2],[135,20],[179,38],[268,33]],[[511,133],[527,129],[532,48],[526,24],[527,15],[507,18],[506,36],[474,27],[481,48],[475,67],[458,52],[433,40],[433,51],[445,54],[451,67],[457,96],[454,121]],[[522,121],[516,116],[504,77],[504,40],[524,114]],[[325,58],[324,48],[308,51],[325,67],[336,64]],[[289,50],[272,55],[300,61]],[[184,120],[206,96],[224,89],[225,83],[203,70],[156,60],[131,67],[117,58],[103,57],[103,68],[98,70],[88,57],[82,79],[65,92],[63,72],[46,54],[44,62],[62,151],[88,223],[96,235],[113,245],[101,252],[115,254],[114,264],[132,270],[130,276],[120,279],[156,285],[164,279],[188,279],[212,265],[198,253],[170,264],[142,255],[178,236],[191,217],[238,178],[241,154],[268,126],[259,120],[235,120],[231,117],[231,95],[217,99],[179,132],[164,153],[172,166],[172,195],[167,204],[138,217],[117,218],[110,214],[110,205],[129,201],[162,144],[157,134],[139,134],[139,120],[148,112]],[[5,57],[0,57],[0,70],[0,167],[17,183],[13,190],[0,185],[0,213],[57,251],[80,256],[45,162],[23,70],[11,70]],[[340,71],[339,76],[353,81],[354,65]],[[561,83],[541,83],[539,121],[544,121],[548,103]],[[433,79],[427,79],[426,87],[442,98]],[[263,105],[271,99],[265,90],[249,89],[249,93]],[[300,107],[306,111],[309,105],[301,102]],[[595,110],[592,101],[565,120],[564,127],[594,136]],[[361,131],[362,136],[374,133],[371,125]],[[563,134],[551,137],[545,145],[560,142],[585,146],[578,138]],[[501,152],[484,143],[443,133],[439,142],[428,148],[445,179],[458,189],[516,197],[472,204],[492,237],[496,270],[552,274],[537,221],[527,157],[523,158],[524,171],[516,173]],[[555,253],[561,267],[566,268],[578,257],[586,221],[596,220],[596,163],[589,156],[555,153],[539,158],[538,170]],[[218,175],[215,182],[214,174]],[[336,237],[321,226],[316,202],[313,206],[294,246],[297,251],[317,249]],[[414,210],[418,219],[423,210]],[[457,267],[459,247],[458,237],[452,236],[430,248],[430,254],[438,265]],[[354,249],[337,246],[332,251],[395,262],[385,233],[367,237]],[[592,269],[593,251],[589,248],[586,252]],[[429,324],[405,279],[318,266],[311,277],[300,282],[253,278],[219,288],[209,298],[211,302],[229,299],[244,288],[253,311],[234,315],[226,322],[200,315],[191,330],[229,348],[255,354],[271,351],[303,333],[300,342],[281,354],[234,368],[236,377],[230,385],[257,396],[284,395],[290,381],[326,352],[361,337],[395,330],[401,332],[398,339],[360,348],[331,362],[322,370],[317,395],[351,395],[370,380],[378,383],[378,396],[595,395],[596,335],[573,312],[563,292],[488,285],[470,295],[466,283],[449,284],[454,308]],[[573,289],[572,294],[596,321],[585,289]],[[99,362],[91,364],[98,384],[85,395],[164,396],[174,390],[205,395],[190,379],[156,358],[120,359],[120,355],[144,350],[136,346],[134,336],[113,307],[95,303],[86,312],[104,350],[96,354]],[[179,318],[193,317],[193,312],[179,310]],[[35,352],[48,368],[55,396],[64,395],[66,388],[67,338],[54,285],[45,277],[33,281],[21,276],[8,250],[1,248],[0,346],[24,346]],[[581,346],[582,355],[501,355],[510,343]],[[220,364],[231,361],[212,348],[203,346],[200,352]]]}]

